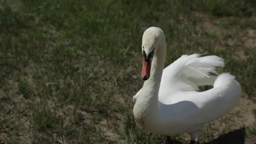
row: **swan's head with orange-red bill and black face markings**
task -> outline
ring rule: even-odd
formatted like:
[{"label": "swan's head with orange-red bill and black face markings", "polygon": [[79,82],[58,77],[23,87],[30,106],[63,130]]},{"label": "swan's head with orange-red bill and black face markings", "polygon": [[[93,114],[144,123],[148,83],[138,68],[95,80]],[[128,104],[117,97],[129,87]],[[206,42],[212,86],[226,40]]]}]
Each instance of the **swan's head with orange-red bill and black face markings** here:
[{"label": "swan's head with orange-red bill and black face markings", "polygon": [[142,36],[142,70],[141,77],[143,80],[148,80],[150,77],[151,62],[157,52],[158,45],[160,43],[160,37],[163,35],[162,29],[158,27],[149,27],[145,30]]}]

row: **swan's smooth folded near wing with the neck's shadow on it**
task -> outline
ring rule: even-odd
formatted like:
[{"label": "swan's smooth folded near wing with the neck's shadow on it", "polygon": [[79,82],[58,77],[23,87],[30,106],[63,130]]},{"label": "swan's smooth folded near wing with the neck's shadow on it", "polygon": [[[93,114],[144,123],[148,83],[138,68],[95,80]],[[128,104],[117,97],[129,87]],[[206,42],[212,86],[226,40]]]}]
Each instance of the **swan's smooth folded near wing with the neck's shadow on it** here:
[{"label": "swan's smooth folded near wing with the neck's shadow on it", "polygon": [[203,125],[230,112],[239,101],[241,91],[235,77],[223,73],[208,91],[177,92],[172,93],[173,96],[160,97],[162,119],[174,118],[183,123]]}]

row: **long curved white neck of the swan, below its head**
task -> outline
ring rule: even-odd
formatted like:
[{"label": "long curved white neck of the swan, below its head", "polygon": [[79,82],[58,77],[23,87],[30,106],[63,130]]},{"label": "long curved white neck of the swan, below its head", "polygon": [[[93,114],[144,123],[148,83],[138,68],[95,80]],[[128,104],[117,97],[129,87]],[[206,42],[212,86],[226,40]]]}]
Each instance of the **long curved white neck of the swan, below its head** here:
[{"label": "long curved white neck of the swan, below its head", "polygon": [[165,36],[160,39],[157,52],[152,59],[151,73],[148,80],[139,93],[136,104],[133,107],[133,115],[136,121],[143,125],[145,120],[154,120],[158,114],[158,92],[165,62],[166,43]]}]

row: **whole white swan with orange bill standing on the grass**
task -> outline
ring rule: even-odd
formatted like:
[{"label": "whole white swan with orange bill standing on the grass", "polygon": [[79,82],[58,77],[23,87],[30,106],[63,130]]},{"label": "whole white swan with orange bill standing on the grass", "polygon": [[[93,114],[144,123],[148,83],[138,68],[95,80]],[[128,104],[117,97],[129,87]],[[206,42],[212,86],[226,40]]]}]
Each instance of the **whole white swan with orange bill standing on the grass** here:
[{"label": "whole white swan with orange bill standing on the grass", "polygon": [[[133,116],[146,131],[165,135],[165,143],[172,143],[170,136],[189,133],[190,144],[195,144],[205,123],[226,115],[238,103],[241,86],[229,73],[218,75],[216,67],[224,67],[218,56],[182,55],[163,69],[166,42],[158,27],[144,31],[141,49],[144,84],[133,96]],[[213,88],[199,92],[201,85]]]}]

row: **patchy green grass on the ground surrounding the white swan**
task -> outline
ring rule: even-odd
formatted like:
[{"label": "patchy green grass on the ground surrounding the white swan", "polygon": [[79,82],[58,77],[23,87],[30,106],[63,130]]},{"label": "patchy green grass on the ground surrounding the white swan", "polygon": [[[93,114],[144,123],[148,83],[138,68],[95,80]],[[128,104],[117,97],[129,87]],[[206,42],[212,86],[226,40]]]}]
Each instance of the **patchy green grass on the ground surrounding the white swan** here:
[{"label": "patchy green grass on the ground surrounding the white swan", "polygon": [[[255,11],[252,0],[0,0],[0,142],[162,141],[132,114],[150,26],[165,32],[165,66],[181,54],[218,55],[227,63],[220,72],[255,100]],[[199,141],[211,141],[213,129]],[[246,127],[248,141],[255,133]]]}]

